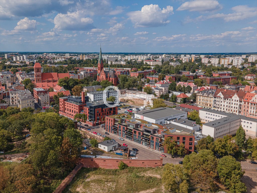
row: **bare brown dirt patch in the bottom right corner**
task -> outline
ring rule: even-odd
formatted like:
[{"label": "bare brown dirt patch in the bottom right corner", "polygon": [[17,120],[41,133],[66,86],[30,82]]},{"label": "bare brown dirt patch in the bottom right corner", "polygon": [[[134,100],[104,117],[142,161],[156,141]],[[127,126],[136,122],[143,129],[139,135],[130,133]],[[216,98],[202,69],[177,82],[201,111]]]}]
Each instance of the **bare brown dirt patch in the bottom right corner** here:
[{"label": "bare brown dirt patch in the bottom right corner", "polygon": [[257,192],[257,171],[256,170],[245,170],[245,174],[242,177],[242,182],[245,183],[247,193]]}]

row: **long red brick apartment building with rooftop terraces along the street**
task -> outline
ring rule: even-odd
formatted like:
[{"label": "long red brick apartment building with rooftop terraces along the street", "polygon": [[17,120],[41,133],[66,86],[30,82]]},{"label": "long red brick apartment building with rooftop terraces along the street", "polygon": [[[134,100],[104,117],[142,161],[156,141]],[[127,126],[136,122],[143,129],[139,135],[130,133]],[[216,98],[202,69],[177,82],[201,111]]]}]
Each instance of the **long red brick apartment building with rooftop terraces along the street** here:
[{"label": "long red brick apartment building with rooftop terraces along the street", "polygon": [[170,137],[172,140],[175,139],[178,145],[184,143],[188,153],[194,151],[195,137],[190,132],[171,130],[163,125],[150,123],[142,119],[132,119],[131,115],[106,116],[105,130],[160,152],[167,153],[163,145],[166,137]]}]

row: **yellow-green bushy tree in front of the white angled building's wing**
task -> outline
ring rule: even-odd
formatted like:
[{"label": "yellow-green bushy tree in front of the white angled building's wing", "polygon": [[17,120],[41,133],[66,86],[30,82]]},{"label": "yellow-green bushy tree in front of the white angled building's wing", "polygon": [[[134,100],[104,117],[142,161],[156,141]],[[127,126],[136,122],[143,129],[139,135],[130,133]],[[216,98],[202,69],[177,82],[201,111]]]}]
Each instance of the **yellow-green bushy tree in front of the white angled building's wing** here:
[{"label": "yellow-green bushy tree in front of the white angled building's wing", "polygon": [[214,141],[215,152],[220,156],[235,154],[238,151],[238,146],[232,141],[231,135],[226,135],[223,138],[217,138]]}]

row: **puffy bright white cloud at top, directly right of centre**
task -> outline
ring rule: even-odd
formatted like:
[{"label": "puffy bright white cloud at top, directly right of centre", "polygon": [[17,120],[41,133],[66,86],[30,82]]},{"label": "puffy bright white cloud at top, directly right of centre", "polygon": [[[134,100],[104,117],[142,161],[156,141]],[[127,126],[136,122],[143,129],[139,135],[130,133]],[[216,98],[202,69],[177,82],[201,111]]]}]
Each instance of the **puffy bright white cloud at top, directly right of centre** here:
[{"label": "puffy bright white cloud at top, directly right of centre", "polygon": [[138,27],[158,27],[167,25],[170,21],[167,20],[168,16],[173,14],[173,7],[167,6],[161,9],[159,5],[144,5],[141,11],[128,12],[128,19],[134,24],[135,28]]}]

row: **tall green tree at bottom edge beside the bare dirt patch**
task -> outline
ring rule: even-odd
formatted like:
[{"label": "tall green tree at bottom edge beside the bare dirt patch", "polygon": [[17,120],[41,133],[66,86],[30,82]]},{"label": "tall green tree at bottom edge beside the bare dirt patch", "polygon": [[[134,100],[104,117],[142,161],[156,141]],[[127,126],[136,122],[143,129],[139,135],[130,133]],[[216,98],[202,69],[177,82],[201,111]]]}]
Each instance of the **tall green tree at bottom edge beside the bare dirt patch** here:
[{"label": "tall green tree at bottom edge beside the bare dirt patch", "polygon": [[[246,192],[244,183],[240,181],[244,172],[240,162],[232,156],[222,157],[217,164],[219,180],[233,193]],[[240,187],[240,188],[239,188]]]}]

